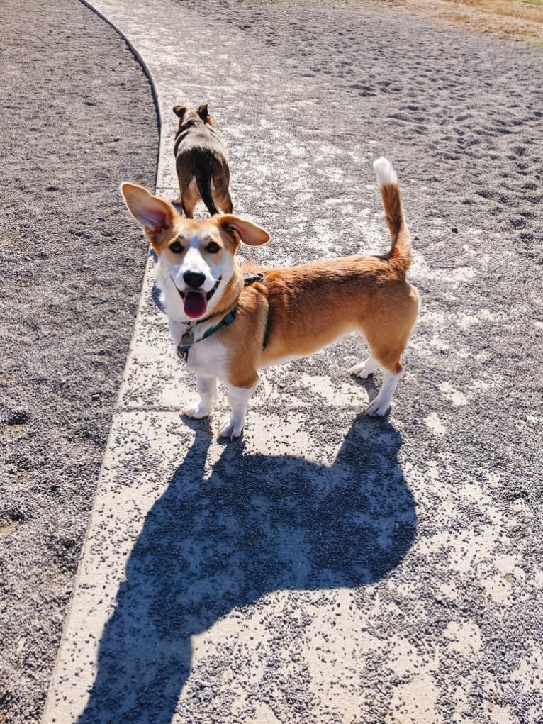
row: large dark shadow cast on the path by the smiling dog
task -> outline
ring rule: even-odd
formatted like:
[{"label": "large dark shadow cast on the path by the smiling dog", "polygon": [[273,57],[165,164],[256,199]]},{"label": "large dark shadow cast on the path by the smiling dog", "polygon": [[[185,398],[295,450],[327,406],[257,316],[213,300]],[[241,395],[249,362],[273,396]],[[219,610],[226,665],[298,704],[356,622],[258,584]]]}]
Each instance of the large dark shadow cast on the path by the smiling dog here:
[{"label": "large dark shadow cast on the path by the smiling dog", "polygon": [[270,592],[371,584],[413,541],[401,438],[387,421],[358,416],[332,466],[237,443],[209,477],[211,431],[197,426],[128,560],[78,724],[169,724],[191,636]]}]

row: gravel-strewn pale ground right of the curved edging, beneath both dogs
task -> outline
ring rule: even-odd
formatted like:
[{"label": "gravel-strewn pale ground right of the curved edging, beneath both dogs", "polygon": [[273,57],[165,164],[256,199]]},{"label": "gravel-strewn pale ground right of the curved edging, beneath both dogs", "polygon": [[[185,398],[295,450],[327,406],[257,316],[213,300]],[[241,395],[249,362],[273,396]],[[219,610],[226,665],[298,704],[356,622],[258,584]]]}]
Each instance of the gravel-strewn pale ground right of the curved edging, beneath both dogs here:
[{"label": "gravel-strewn pale ground right of the curved edging, beneath both dogs", "polygon": [[169,109],[208,101],[272,235],[248,256],[382,251],[384,153],[422,308],[386,420],[348,337],[266,371],[223,447],[147,278],[46,721],[538,723],[539,49],[365,3],[96,4],[153,74],[166,198]]}]

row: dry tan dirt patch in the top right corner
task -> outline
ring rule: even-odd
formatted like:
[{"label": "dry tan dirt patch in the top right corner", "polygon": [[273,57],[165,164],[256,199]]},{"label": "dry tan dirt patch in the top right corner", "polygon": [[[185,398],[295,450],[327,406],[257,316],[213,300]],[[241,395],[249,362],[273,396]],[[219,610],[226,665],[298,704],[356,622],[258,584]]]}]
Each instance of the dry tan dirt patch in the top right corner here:
[{"label": "dry tan dirt patch in the top right corner", "polygon": [[392,0],[409,12],[502,38],[543,43],[543,0]]}]

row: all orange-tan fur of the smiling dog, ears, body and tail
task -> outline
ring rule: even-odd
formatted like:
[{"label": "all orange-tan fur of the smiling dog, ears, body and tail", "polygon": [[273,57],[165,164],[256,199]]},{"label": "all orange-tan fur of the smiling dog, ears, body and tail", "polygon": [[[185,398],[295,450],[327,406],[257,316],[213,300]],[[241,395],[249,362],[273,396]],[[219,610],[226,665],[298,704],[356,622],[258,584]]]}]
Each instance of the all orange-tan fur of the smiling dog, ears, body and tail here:
[{"label": "all orange-tan fur of the smiling dog, ears, body and tail", "polygon": [[[140,187],[125,184],[122,191],[159,255],[172,253],[172,240],[194,235],[195,230],[203,239],[203,255],[210,240],[220,245],[219,253],[235,256],[240,240],[258,245],[269,239],[264,230],[232,215],[184,219],[169,203]],[[219,320],[237,308],[232,324],[215,333],[228,350],[229,384],[250,390],[258,380],[258,369],[309,355],[353,330],[363,334],[380,366],[394,376],[400,374],[400,356],[418,313],[418,293],[405,279],[411,240],[399,187],[384,184],[381,192],[392,240],[387,255],[348,256],[284,269],[248,264],[245,269],[264,272],[264,280],[249,287],[243,286],[245,269],[235,266],[227,291],[213,310]],[[148,216],[152,219],[146,223]]]}]

